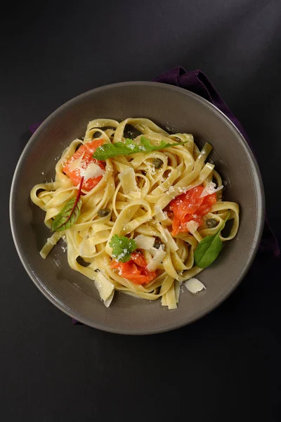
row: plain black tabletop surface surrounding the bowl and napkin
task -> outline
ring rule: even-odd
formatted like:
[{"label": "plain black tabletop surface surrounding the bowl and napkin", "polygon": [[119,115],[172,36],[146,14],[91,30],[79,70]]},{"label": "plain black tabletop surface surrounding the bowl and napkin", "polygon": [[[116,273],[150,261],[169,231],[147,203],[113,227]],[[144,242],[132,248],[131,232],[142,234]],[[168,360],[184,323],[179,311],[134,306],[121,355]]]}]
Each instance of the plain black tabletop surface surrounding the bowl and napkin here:
[{"label": "plain black tabletop surface surrounding the bowl and napkin", "polygon": [[[133,337],[72,326],[30,281],[8,224],[28,127],[84,91],[200,68],[246,129],[280,224],[278,0],[37,1],[1,11],[2,421],[280,421],[280,261],[261,253],[214,312]],[[28,239],[27,239],[28,242]]]}]

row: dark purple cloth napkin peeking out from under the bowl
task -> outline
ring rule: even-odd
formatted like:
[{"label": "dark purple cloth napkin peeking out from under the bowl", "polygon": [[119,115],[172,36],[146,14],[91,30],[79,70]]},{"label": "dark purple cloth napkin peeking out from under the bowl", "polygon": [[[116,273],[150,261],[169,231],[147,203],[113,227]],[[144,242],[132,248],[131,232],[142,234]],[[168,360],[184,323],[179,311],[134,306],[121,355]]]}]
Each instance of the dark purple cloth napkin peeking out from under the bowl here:
[{"label": "dark purple cloth napkin peeking out from under the bowl", "polygon": [[[244,139],[252,149],[249,138],[242,127],[242,124],[237,120],[237,118],[231,113],[226,103],[223,101],[223,98],[218,95],[218,92],[211,84],[206,75],[204,75],[201,70],[192,70],[191,72],[186,72],[185,69],[178,67],[168,72],[162,73],[159,77],[154,79],[154,82],[162,82],[164,84],[175,85],[176,87],[181,87],[188,89],[189,91],[194,92],[197,95],[202,96],[210,103],[214,104],[219,110],[223,112],[232,122],[235,124],[237,129],[242,133]],[[40,123],[34,123],[30,126],[30,132],[32,134],[40,126]],[[280,257],[280,248],[277,243],[277,239],[273,234],[273,231],[270,229],[268,224],[268,219],[266,217],[266,224],[263,229],[263,237],[261,239],[261,244],[259,246],[260,252],[269,252],[273,257]],[[76,319],[72,319],[72,324],[81,324]]]}]

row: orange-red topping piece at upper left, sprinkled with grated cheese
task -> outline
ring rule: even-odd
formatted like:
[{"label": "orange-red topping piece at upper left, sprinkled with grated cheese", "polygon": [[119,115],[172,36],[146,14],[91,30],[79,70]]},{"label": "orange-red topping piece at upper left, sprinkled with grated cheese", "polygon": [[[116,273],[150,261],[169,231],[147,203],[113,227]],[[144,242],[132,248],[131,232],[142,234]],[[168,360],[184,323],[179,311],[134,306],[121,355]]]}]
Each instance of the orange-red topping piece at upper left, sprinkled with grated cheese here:
[{"label": "orange-red topping piece at upper left, sprinkled with grated cheese", "polygon": [[[80,148],[77,149],[76,153],[74,153],[72,157],[70,157],[70,159],[67,160],[67,162],[65,163],[65,166],[63,167],[63,172],[65,172],[65,174],[67,174],[67,176],[72,179],[75,186],[79,185],[81,181],[81,171],[86,170],[86,168],[91,162],[99,165],[101,169],[105,170],[104,163],[102,161],[96,160],[96,158],[93,158],[93,153],[96,151],[96,148],[103,145],[103,143],[103,139],[93,139],[93,141],[89,141],[84,145],[81,145]],[[81,155],[83,155],[83,157],[81,157]],[[81,166],[75,168],[74,170],[71,170],[71,163],[75,160],[78,160],[79,158],[81,158]],[[102,177],[103,176],[100,175],[92,179],[84,180],[83,189],[86,191],[91,191],[91,189],[98,184]]]}]

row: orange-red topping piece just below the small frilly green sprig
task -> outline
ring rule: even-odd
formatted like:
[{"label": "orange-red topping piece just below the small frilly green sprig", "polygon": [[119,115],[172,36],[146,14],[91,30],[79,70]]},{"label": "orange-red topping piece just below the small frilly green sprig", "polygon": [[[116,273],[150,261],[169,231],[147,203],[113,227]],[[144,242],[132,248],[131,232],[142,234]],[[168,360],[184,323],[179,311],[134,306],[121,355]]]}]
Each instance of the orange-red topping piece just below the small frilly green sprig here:
[{"label": "orange-red topping piece just below the small frilly green sprig", "polygon": [[120,276],[133,281],[135,284],[148,284],[156,277],[156,272],[148,271],[145,258],[137,252],[131,254],[131,260],[128,262],[117,262],[114,260],[111,262],[110,267],[118,269]]}]

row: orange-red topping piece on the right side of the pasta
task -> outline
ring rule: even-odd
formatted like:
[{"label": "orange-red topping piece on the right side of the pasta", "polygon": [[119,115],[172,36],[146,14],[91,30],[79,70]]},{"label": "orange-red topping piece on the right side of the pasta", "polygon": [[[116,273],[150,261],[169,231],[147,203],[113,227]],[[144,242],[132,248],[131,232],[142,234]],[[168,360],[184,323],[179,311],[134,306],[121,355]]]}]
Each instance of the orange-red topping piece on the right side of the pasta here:
[{"label": "orange-red topping piece on the right side of the pasta", "polygon": [[172,236],[187,232],[186,223],[191,220],[200,226],[203,224],[202,215],[207,214],[216,203],[216,193],[200,197],[203,189],[203,186],[196,186],[171,200],[169,210],[174,212]]}]

